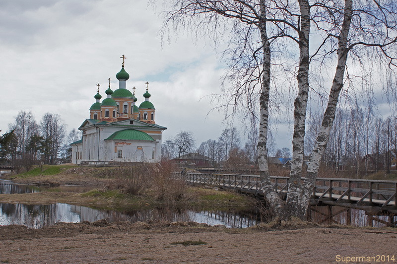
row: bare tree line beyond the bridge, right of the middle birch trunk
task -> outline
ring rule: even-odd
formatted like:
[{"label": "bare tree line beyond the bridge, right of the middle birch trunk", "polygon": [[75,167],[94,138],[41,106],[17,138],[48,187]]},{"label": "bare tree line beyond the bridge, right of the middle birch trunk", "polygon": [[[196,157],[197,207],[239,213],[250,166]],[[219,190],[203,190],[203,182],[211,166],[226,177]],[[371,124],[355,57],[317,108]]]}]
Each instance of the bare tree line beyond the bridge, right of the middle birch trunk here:
[{"label": "bare tree line beyond the bridge, right of the middle birch trunk", "polygon": [[[321,114],[309,116],[305,138],[306,154],[314,147],[321,127]],[[338,107],[330,139],[322,158],[322,166],[336,174],[347,171],[360,177],[370,172],[396,169],[397,116],[376,115],[371,105],[352,108]]]}]

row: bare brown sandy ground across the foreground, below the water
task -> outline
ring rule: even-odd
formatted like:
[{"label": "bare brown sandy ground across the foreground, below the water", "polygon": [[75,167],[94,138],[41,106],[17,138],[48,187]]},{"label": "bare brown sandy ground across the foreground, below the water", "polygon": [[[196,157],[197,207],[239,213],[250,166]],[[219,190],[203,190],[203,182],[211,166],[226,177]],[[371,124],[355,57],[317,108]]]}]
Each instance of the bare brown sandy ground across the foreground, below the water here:
[{"label": "bare brown sandy ground across the foreground, below the water", "polygon": [[[287,226],[225,229],[190,224],[60,223],[0,227],[2,263],[335,263],[336,256],[397,258],[396,229]],[[205,245],[172,245],[203,241]],[[397,260],[395,261],[397,262]],[[355,262],[365,263],[365,262]],[[379,263],[379,262],[378,262]],[[393,262],[390,262],[393,263]]]}]

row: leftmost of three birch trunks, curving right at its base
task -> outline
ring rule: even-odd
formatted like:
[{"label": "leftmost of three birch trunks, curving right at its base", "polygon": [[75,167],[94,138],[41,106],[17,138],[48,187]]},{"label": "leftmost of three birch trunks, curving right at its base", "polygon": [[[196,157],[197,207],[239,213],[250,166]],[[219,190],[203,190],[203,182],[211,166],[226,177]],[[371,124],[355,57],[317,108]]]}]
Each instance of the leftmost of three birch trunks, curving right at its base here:
[{"label": "leftmost of three birch trunks, curving right at its base", "polygon": [[265,200],[273,210],[275,217],[280,217],[283,213],[284,203],[281,198],[274,192],[273,186],[270,182],[269,168],[267,164],[267,130],[268,130],[268,106],[270,94],[270,43],[267,39],[266,32],[266,10],[265,0],[261,0],[261,16],[259,29],[261,32],[261,39],[264,52],[263,62],[263,76],[262,76],[262,91],[260,97],[261,116],[259,124],[259,140],[258,140],[258,163],[262,182],[262,191],[264,192]]}]

